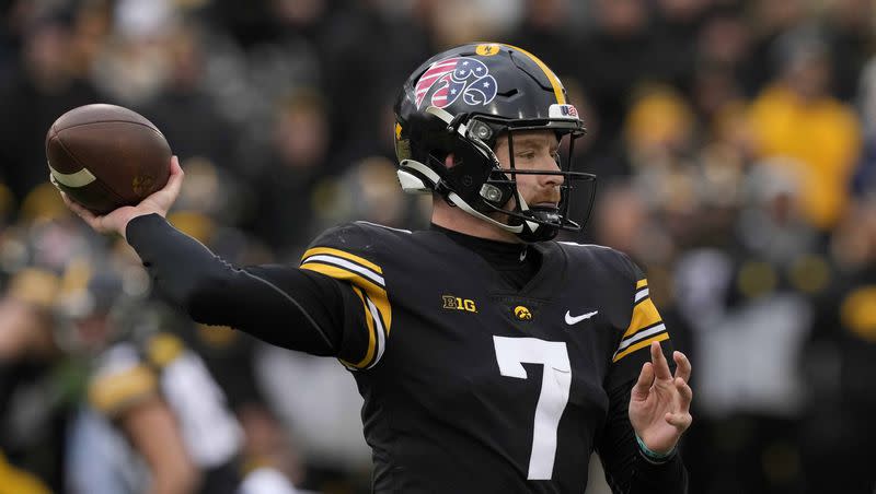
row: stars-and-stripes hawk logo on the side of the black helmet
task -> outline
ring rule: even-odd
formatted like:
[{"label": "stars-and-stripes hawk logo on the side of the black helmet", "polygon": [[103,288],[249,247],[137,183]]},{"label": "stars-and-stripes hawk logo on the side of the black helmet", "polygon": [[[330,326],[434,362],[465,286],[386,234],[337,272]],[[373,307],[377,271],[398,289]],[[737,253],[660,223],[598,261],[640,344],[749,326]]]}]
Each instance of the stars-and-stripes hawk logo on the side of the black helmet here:
[{"label": "stars-and-stripes hawk logo on the side of the black helmet", "polygon": [[[466,105],[486,105],[496,97],[496,79],[489,75],[484,62],[470,57],[451,57],[429,66],[419,77],[416,92],[417,108],[427,105],[443,108],[460,96]],[[428,98],[426,96],[429,96]]]}]

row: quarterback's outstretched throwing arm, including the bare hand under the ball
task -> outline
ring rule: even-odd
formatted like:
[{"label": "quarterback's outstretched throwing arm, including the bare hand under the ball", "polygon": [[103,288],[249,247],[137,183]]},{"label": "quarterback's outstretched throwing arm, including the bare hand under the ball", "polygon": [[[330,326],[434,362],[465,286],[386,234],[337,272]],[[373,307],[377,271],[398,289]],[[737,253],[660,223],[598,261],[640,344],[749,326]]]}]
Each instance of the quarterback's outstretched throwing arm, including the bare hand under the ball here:
[{"label": "quarterback's outstretched throwing arm, including the bare hand under the ball", "polygon": [[173,156],[163,189],[136,207],[105,215],[61,197],[94,231],[125,237],[159,289],[193,319],[231,326],[287,349],[334,355],[353,367],[377,362],[374,319],[368,315],[368,298],[377,297],[366,297],[366,286],[357,291],[359,280],[344,278],[343,270],[326,274],[319,269],[228,264],[164,221],[183,176]]}]

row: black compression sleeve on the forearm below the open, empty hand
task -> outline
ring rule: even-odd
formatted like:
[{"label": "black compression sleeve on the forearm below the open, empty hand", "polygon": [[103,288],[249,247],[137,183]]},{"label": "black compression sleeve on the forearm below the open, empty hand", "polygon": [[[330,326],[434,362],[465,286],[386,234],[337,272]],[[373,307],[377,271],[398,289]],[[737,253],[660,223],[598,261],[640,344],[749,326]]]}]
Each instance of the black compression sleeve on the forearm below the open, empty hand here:
[{"label": "black compression sleeve on the forearm below the open, empty hand", "polygon": [[597,447],[614,494],[687,494],[688,471],[676,451],[655,464],[641,452],[630,423],[630,391],[635,380],[611,391],[609,416]]}]

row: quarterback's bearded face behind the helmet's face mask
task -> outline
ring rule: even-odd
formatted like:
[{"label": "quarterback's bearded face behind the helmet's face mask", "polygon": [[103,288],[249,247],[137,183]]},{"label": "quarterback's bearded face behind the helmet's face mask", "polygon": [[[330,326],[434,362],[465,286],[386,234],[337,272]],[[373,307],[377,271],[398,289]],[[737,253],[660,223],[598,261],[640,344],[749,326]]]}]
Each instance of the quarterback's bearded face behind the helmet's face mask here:
[{"label": "quarterback's bearded face behind the helmet's face mask", "polygon": [[[557,152],[560,141],[550,130],[530,130],[515,132],[514,167],[520,170],[544,169],[558,172]],[[496,140],[496,157],[505,168],[510,168],[510,150],[508,137]],[[527,175],[516,174],[517,190],[531,208],[556,208],[560,204],[560,186],[562,175]],[[512,199],[514,200],[514,199]],[[510,204],[511,207],[514,203]]]}]

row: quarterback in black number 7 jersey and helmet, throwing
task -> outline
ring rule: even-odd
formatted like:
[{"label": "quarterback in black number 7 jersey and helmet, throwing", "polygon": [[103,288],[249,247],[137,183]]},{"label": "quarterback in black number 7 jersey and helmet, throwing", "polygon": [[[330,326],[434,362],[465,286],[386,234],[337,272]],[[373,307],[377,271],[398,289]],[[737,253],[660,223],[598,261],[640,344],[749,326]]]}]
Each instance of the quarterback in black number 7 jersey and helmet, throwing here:
[{"label": "quarterback in black number 7 jersey and helmet, throwing", "polygon": [[66,200],[194,319],[346,366],[377,493],[580,493],[593,451],[615,493],[685,493],[691,365],[647,279],[554,240],[595,179],[561,158],[585,129],[556,75],[517,47],[460,46],[412,73],[395,119],[399,181],[433,196],[431,227],[342,225],[298,267],[233,267],[168,224],[175,157],[137,207]]}]

